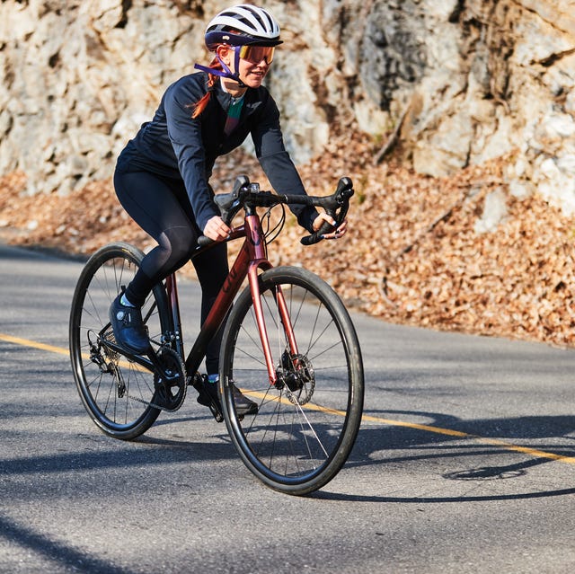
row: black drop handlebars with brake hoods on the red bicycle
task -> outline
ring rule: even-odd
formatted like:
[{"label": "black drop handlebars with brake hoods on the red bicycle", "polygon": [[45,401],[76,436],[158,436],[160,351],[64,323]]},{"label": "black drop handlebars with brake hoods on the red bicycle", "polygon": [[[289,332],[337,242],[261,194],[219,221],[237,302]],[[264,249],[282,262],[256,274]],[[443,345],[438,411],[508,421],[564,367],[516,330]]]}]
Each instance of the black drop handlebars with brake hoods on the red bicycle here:
[{"label": "black drop handlebars with brake hoods on the red bicycle", "polygon": [[[246,175],[241,175],[235,180],[234,190],[229,193],[217,194],[214,201],[220,210],[222,219],[226,225],[230,225],[234,216],[244,209],[246,215],[255,214],[255,208],[271,208],[279,204],[305,205],[325,209],[326,213],[335,220],[335,225],[324,222],[322,227],[301,239],[304,245],[311,245],[322,241],[323,235],[341,225],[349,209],[349,198],[353,195],[353,183],[349,177],[342,177],[338,182],[337,189],[328,196],[310,195],[278,195],[271,191],[261,191],[258,183],[250,182]],[[243,227],[234,229],[229,239],[243,237]],[[211,243],[211,239],[201,236],[198,240],[199,248]]]}]

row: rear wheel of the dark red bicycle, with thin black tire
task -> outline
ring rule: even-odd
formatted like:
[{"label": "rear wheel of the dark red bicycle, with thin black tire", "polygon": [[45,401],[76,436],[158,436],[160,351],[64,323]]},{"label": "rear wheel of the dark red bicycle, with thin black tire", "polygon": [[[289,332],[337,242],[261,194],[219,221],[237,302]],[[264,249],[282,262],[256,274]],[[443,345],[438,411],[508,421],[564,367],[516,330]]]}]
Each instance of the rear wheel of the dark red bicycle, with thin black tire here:
[{"label": "rear wheel of the dark red bicycle, with thin black tire", "polygon": [[[93,422],[106,435],[122,440],[140,436],[161,410],[151,406],[154,374],[98,344],[112,340],[108,318],[112,300],[136,274],[144,254],[128,243],[111,243],[86,262],[75,287],[69,344],[75,384]],[[167,296],[156,285],[142,308],[150,340],[171,329]]]}]

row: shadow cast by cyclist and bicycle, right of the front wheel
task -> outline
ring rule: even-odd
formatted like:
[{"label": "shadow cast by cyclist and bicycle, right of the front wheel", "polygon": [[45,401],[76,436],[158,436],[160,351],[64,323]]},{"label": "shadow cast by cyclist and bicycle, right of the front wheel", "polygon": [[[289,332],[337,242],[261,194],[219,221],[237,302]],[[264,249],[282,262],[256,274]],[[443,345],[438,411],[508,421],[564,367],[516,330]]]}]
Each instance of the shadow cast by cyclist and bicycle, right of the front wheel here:
[{"label": "shadow cast by cyclist and bicycle, right of the front wheel", "polygon": [[[403,426],[369,427],[360,429],[358,440],[352,456],[349,458],[348,467],[361,467],[372,464],[385,465],[405,463],[421,463],[445,459],[454,461],[457,458],[464,459],[477,456],[517,455],[510,453],[504,444],[514,446],[510,441],[520,440],[517,450],[526,449],[524,456],[530,456],[527,460],[500,465],[485,465],[479,467],[464,468],[463,470],[444,472],[441,478],[449,481],[510,481],[526,476],[527,470],[541,464],[553,462],[550,456],[536,456],[537,452],[557,455],[562,457],[575,457],[575,416],[525,416],[509,419],[475,419],[462,420],[445,414],[420,412],[420,411],[370,411],[371,416],[380,416],[390,419],[401,415],[427,419],[426,426],[447,431],[464,433],[464,437],[451,437],[447,434],[435,435],[424,429],[405,428]],[[493,439],[493,444],[480,446],[479,443]],[[553,442],[553,438],[561,438],[563,444]],[[533,442],[527,443],[532,439]],[[541,439],[549,439],[541,443]],[[473,444],[456,444],[456,441],[473,441]],[[501,441],[497,445],[496,441]],[[571,441],[572,445],[565,446],[565,441]],[[452,443],[452,444],[450,444]],[[385,451],[385,458],[375,457],[376,453]],[[401,453],[394,455],[394,453]],[[486,495],[464,494],[462,496],[364,496],[354,494],[341,494],[327,491],[319,491],[312,495],[316,499],[348,500],[363,502],[403,502],[403,503],[440,503],[440,502],[476,502],[490,500],[511,499],[539,499],[545,497],[566,496],[575,494],[575,488],[557,490],[537,490],[528,492],[493,493]]]}]

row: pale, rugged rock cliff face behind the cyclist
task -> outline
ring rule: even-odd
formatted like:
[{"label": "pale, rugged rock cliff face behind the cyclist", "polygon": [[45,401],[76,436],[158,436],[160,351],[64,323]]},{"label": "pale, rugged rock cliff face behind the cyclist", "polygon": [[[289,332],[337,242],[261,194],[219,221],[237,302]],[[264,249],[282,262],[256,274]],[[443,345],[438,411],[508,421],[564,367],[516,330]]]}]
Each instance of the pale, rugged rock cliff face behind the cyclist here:
[{"label": "pale, rugged rock cliff face behind the cyclist", "polygon": [[[61,194],[109,177],[164,87],[208,61],[203,30],[227,4],[2,0],[0,175]],[[436,176],[511,154],[479,232],[507,193],[575,212],[572,0],[261,4],[286,40],[268,84],[297,162],[349,130],[394,133],[404,160]]]}]

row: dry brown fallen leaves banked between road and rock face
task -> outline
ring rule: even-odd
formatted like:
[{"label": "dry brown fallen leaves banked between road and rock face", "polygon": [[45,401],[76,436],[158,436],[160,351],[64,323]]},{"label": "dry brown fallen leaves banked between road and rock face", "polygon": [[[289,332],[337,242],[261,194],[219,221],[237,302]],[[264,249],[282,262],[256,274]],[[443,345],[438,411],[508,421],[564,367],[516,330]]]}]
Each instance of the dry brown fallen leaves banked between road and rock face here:
[{"label": "dry brown fallen leaves banked between road and rock face", "polygon": [[[300,169],[307,190],[319,195],[342,175],[353,179],[350,231],[304,248],[289,218],[270,245],[271,261],[314,270],[349,305],[386,321],[573,344],[571,217],[536,196],[508,196],[497,231],[477,234],[486,195],[504,185],[504,158],[436,179],[395,161],[374,166],[376,151],[358,136],[340,140]],[[266,188],[257,163],[241,153],[219,166],[214,187],[229,190],[239,172]],[[111,181],[67,197],[29,197],[24,187],[22,173],[0,179],[0,232],[11,243],[84,255],[111,241],[152,244],[119,206]]]}]

